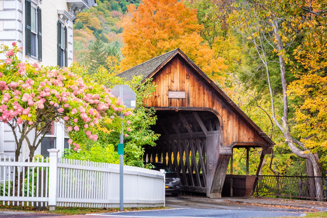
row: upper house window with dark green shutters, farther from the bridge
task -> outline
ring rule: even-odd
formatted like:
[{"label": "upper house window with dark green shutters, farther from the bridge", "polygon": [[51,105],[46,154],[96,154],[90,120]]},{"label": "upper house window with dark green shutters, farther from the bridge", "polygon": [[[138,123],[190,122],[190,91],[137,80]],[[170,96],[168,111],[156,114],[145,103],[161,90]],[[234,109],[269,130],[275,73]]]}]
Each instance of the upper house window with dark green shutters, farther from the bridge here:
[{"label": "upper house window with dark green shutters, farther from the bridge", "polygon": [[26,55],[42,61],[42,13],[41,8],[26,0]]}]

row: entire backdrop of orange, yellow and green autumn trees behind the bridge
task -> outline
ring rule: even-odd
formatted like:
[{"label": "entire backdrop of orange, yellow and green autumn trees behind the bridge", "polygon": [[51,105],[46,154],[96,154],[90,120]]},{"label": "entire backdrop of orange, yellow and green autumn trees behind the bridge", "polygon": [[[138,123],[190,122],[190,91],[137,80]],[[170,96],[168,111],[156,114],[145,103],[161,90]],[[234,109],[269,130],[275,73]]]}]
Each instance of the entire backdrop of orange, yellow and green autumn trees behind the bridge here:
[{"label": "entire backdrop of orange, yellow and green autumn trees behind the bridge", "polygon": [[[264,174],[321,176],[326,1],[285,2],[97,1],[77,14],[74,58],[115,75],[180,47],[276,143]],[[235,150],[234,173],[244,174],[245,153]],[[250,158],[257,163],[259,150]]]}]

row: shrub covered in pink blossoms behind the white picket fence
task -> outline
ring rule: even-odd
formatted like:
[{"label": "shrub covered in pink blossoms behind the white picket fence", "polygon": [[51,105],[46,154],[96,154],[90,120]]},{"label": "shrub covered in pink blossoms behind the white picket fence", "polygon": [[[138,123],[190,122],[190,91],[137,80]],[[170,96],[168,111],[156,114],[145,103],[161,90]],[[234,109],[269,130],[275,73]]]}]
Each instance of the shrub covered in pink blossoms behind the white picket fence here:
[{"label": "shrub covered in pink blossoms behind the white picket fence", "polygon": [[[74,150],[83,149],[85,140],[98,140],[99,125],[104,118],[113,117],[109,127],[119,129],[121,120],[115,111],[128,117],[133,114],[110,89],[86,83],[76,76],[74,71],[80,69],[22,63],[16,56],[19,48],[16,43],[12,45],[12,49],[2,45],[0,51],[7,56],[0,61],[0,121],[18,128],[23,135],[17,138],[13,132],[18,150],[29,132],[42,138],[44,130],[49,130],[55,121],[67,126]],[[27,142],[30,159],[40,143],[41,140]]]}]

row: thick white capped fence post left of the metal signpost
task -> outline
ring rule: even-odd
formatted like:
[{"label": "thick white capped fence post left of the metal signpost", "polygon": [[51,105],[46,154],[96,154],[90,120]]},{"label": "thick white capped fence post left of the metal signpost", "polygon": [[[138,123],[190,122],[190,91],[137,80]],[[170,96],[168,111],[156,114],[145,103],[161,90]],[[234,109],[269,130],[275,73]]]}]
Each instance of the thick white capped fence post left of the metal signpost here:
[{"label": "thick white capped fence post left of the metal signpost", "polygon": [[55,210],[57,204],[57,166],[58,149],[48,149],[49,152],[49,210]]}]

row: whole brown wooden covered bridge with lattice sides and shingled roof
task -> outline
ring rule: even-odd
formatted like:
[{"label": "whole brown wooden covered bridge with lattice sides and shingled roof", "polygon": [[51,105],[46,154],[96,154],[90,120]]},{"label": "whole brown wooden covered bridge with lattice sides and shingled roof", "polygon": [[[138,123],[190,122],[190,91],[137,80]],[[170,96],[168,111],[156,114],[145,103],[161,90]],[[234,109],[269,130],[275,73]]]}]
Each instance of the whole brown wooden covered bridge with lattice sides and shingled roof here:
[{"label": "whole brown wooden covered bridge with lattice sides and shingled roof", "polygon": [[[157,159],[176,170],[184,192],[211,198],[222,193],[250,196],[264,156],[274,145],[270,138],[180,49],[118,74],[127,80],[134,75],[142,75],[143,81],[153,78],[157,85],[144,104],[156,109],[158,121],[152,129],[161,136],[156,147],[145,147],[144,160]],[[253,147],[262,152],[257,174],[250,176]],[[247,175],[226,176],[233,148],[246,149]]]}]

